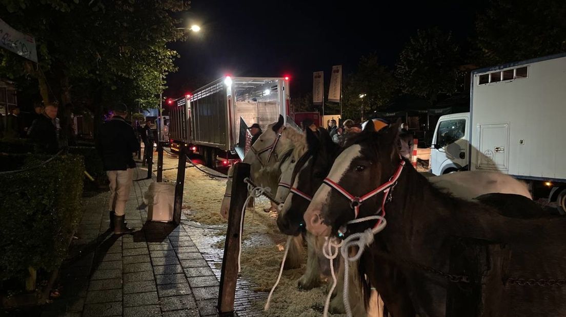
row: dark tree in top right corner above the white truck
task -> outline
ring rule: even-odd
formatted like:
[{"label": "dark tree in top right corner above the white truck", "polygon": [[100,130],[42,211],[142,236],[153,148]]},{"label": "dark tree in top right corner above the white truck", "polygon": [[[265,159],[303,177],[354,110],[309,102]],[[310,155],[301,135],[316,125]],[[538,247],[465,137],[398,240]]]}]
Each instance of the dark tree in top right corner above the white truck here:
[{"label": "dark tree in top right corner above the white truck", "polygon": [[566,2],[496,0],[478,15],[475,60],[489,66],[566,51]]}]

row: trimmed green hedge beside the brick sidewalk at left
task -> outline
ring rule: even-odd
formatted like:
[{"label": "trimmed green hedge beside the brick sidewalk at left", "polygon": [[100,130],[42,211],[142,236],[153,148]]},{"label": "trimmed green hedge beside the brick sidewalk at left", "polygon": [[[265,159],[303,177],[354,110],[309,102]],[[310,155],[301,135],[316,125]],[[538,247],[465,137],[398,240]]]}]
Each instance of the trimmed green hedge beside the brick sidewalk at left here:
[{"label": "trimmed green hedge beside the brick sidewalk at left", "polygon": [[[36,166],[50,156],[2,155],[2,169]],[[0,280],[28,267],[53,271],[82,217],[83,158],[62,155],[41,168],[0,175]]]}]

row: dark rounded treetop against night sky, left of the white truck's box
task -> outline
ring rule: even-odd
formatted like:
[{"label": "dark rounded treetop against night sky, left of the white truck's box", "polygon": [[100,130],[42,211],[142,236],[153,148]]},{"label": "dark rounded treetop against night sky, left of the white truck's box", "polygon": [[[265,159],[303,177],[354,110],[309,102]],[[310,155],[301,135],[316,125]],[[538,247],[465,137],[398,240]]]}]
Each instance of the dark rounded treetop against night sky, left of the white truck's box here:
[{"label": "dark rounded treetop against night sky, left of the white truck's box", "polygon": [[418,30],[401,51],[396,77],[401,89],[435,102],[439,94],[453,94],[462,89],[464,73],[460,49],[451,33],[439,28]]}]

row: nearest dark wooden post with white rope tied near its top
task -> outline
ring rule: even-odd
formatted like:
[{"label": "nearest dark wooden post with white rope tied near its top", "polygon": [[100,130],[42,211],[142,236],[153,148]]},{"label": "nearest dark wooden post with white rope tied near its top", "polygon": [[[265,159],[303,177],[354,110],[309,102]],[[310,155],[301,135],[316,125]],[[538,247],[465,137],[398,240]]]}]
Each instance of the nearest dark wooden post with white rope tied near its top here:
[{"label": "nearest dark wooden post with white rope tied near its top", "polygon": [[250,164],[238,163],[234,166],[230,209],[228,215],[228,231],[224,243],[224,257],[222,258],[222,274],[220,276],[220,290],[218,292],[218,314],[232,316],[234,312],[234,297],[236,293],[236,280],[238,279],[238,253],[240,222],[244,214],[242,207],[247,198],[246,177],[250,177]]}]

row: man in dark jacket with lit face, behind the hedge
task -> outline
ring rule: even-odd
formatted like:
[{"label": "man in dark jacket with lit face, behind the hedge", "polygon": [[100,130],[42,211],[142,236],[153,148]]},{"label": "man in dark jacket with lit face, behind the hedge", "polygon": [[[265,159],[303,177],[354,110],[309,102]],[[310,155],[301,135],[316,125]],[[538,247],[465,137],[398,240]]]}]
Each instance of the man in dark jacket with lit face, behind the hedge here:
[{"label": "man in dark jacket with lit face, behind the hedge", "polygon": [[41,114],[28,129],[28,136],[38,144],[38,150],[54,154],[59,151],[59,121],[57,105],[47,104]]}]

